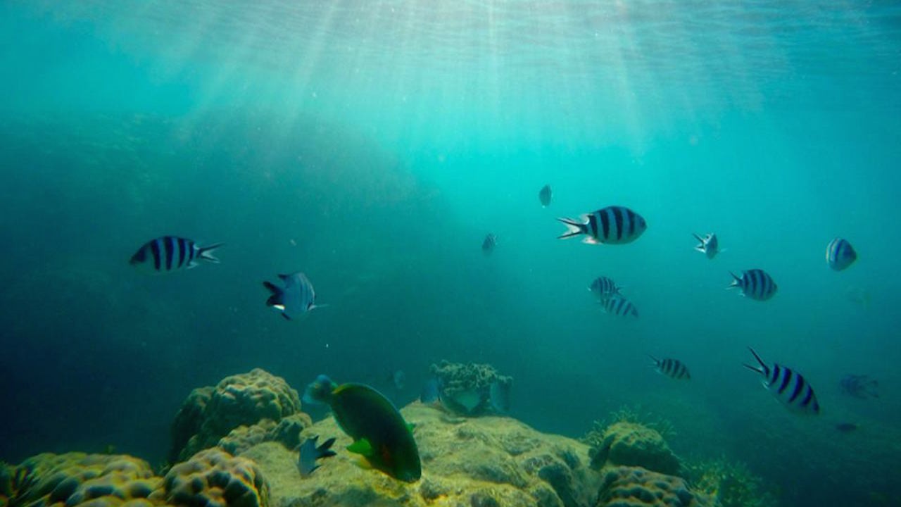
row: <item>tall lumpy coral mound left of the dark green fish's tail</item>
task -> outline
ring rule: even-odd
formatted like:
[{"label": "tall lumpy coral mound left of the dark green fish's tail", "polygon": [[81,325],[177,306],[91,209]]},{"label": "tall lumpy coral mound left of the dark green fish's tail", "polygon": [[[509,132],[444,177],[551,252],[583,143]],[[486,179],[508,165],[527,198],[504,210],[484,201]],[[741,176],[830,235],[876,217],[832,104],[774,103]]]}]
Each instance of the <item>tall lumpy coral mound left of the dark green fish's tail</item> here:
[{"label": "tall lumpy coral mound left of the dark green fish's tail", "polygon": [[172,424],[169,461],[183,461],[215,446],[232,429],[262,419],[279,421],[300,411],[297,392],[281,377],[256,368],[195,389]]}]

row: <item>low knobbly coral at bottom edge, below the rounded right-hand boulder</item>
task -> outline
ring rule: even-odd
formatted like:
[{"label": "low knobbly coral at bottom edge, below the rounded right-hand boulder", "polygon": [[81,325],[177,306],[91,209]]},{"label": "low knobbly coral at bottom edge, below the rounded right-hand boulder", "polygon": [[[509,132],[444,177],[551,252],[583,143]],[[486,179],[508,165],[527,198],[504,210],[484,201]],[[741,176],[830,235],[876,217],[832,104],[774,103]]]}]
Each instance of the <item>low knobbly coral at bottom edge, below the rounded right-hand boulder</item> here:
[{"label": "low knobbly coral at bottom edge, below the rounded right-hand boulder", "polygon": [[606,469],[596,507],[713,507],[703,493],[693,493],[684,480],[640,467]]}]

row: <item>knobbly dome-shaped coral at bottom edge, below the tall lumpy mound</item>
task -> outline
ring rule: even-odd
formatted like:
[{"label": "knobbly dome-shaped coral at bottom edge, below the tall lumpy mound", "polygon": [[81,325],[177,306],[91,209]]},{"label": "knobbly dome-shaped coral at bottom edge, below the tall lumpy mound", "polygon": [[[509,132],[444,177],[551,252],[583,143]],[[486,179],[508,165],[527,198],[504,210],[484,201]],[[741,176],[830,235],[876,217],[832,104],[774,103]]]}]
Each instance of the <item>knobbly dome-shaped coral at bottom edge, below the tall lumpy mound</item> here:
[{"label": "knobbly dome-shaped coral at bottom edge, below the tall lumpy mound", "polygon": [[249,459],[206,449],[172,466],[154,494],[183,507],[268,507],[269,486]]}]

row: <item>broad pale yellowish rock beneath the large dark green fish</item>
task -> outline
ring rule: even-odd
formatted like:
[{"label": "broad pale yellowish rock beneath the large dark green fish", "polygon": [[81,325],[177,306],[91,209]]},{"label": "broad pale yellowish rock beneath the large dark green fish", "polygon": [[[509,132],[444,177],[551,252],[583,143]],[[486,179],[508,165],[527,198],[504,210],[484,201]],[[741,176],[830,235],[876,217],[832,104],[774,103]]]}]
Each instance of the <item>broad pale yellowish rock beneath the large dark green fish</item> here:
[{"label": "broad pale yellowish rock beneath the large dark green fish", "polygon": [[545,435],[516,419],[449,418],[443,410],[415,402],[401,410],[414,424],[423,477],[414,484],[361,466],[345,450],[351,443],[334,419],[305,429],[301,437],[337,438],[338,454],[303,478],[297,453],[264,442],[241,453],[259,464],[270,485],[273,507],[320,505],[593,505],[602,476],[587,466],[588,447]]}]

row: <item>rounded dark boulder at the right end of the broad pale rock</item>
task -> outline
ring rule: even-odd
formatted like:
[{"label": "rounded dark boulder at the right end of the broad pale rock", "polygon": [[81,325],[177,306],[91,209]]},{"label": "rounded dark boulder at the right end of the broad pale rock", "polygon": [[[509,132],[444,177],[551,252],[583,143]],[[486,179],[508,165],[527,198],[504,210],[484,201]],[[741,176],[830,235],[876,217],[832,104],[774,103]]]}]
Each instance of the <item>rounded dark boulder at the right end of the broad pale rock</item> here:
[{"label": "rounded dark boulder at the right end of the broad pale rock", "polygon": [[679,462],[656,429],[629,421],[614,422],[592,446],[591,467],[605,465],[642,466],[654,472],[677,475]]}]

